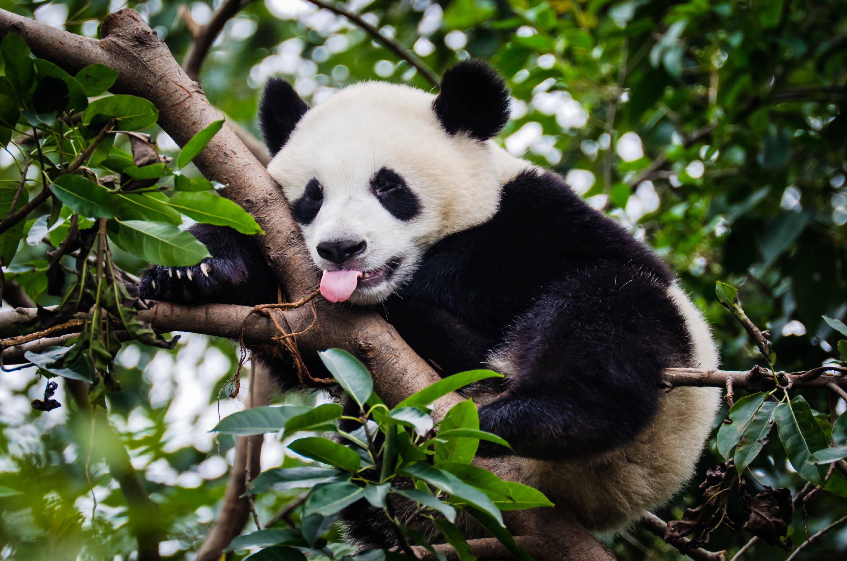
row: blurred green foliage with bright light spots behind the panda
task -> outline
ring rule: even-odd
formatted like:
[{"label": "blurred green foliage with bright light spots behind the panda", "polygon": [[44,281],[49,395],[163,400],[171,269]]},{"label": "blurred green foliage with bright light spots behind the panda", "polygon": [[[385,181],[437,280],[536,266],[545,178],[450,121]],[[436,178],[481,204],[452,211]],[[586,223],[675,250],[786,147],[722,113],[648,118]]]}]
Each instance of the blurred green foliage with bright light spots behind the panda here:
[{"label": "blurred green foliage with bright light spots behind the panda", "polygon": [[[810,369],[838,357],[837,338],[821,316],[847,312],[843,0],[338,5],[439,74],[468,57],[500,69],[513,98],[512,119],[498,142],[556,169],[592,206],[656,248],[714,326],[723,368],[748,369],[760,357],[717,304],[716,280],[739,287],[750,318],[771,330],[778,369]],[[134,8],[181,61],[191,26],[208,23],[218,3],[0,0],[0,7],[90,37],[109,12]],[[272,75],[291,81],[311,105],[363,80],[432,88],[357,25],[304,0],[246,3],[213,43],[200,81],[215,106],[258,136],[257,97]],[[167,134],[156,127],[148,132],[163,153],[175,154]],[[16,158],[13,145],[0,150],[0,178],[16,178]],[[42,253],[42,236],[21,242],[8,270],[43,267],[31,260]],[[143,265],[126,256],[122,264],[134,271]],[[18,280],[47,305],[53,302],[42,277]],[[232,440],[208,430],[243,407],[224,389],[236,364],[231,342],[190,334],[174,351],[128,343],[120,355],[123,390],[108,396],[110,419],[162,508],[169,528],[163,558],[192,558],[223,496]],[[65,407],[30,408],[45,383],[34,369],[2,374],[0,486],[23,494],[0,497],[0,559],[132,559],[125,503],[105,465],[74,444]],[[57,395],[65,405],[61,386]],[[826,395],[805,395],[827,411]],[[712,445],[700,475],[717,461]],[[268,436],[263,468],[283,461],[300,460],[286,457],[283,444]],[[778,442],[752,467],[763,484],[802,485]],[[657,514],[679,518],[698,503],[701,479]],[[300,493],[261,497],[260,517],[268,519]],[[820,493],[808,510],[814,532],[847,514],[847,502]],[[804,539],[800,513],[791,531],[794,542]],[[749,537],[722,528],[708,547],[735,550]],[[625,532],[613,551],[621,559],[681,558],[639,528]],[[801,558],[838,558],[844,551],[847,529],[823,537]],[[745,554],[786,556],[764,544]]]}]

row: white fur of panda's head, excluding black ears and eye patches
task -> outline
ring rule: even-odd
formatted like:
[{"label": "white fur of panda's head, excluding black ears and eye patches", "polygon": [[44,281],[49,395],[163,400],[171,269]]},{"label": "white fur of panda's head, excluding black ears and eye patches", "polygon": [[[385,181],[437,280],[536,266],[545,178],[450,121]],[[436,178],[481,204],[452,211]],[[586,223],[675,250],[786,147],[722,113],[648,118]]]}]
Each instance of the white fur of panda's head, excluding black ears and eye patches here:
[{"label": "white fur of panda's head, excluding black ears and eye patches", "polygon": [[[447,135],[432,109],[434,100],[428,92],[385,82],[348,86],[307,111],[268,164],[291,202],[313,178],[324,187],[318,216],[302,228],[318,268],[339,268],[318,255],[321,242],[367,242],[366,251],[344,269],[370,271],[403,258],[389,280],[353,292],[353,303],[385,300],[411,277],[432,244],[490,219],[503,184],[530,165],[495,142]],[[384,166],[418,197],[417,218],[396,219],[370,192],[371,178]]]}]

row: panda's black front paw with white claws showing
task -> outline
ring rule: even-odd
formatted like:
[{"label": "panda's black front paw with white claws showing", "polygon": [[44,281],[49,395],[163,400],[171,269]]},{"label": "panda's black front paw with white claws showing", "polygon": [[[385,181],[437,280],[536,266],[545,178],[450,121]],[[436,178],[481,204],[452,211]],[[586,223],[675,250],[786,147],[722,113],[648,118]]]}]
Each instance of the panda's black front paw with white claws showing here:
[{"label": "panda's black front paw with white claws showing", "polygon": [[147,300],[223,302],[229,299],[228,292],[246,279],[241,261],[208,258],[190,267],[152,265],[141,275],[138,292]]}]

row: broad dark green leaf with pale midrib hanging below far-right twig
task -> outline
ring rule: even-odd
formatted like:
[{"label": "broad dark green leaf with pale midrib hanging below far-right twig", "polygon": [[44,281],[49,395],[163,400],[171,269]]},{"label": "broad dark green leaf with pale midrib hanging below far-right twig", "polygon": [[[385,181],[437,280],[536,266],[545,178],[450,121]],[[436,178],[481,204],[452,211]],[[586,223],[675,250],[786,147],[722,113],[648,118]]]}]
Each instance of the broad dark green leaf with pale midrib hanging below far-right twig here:
[{"label": "broad dark green leaf with pale midrib hanging below far-right twig", "polygon": [[803,396],[794,397],[790,402],[780,403],[773,410],[777,419],[779,439],[789,455],[789,461],[800,477],[815,485],[823,485],[827,468],[807,464],[812,453],[827,447],[823,430],[815,421],[809,404]]}]

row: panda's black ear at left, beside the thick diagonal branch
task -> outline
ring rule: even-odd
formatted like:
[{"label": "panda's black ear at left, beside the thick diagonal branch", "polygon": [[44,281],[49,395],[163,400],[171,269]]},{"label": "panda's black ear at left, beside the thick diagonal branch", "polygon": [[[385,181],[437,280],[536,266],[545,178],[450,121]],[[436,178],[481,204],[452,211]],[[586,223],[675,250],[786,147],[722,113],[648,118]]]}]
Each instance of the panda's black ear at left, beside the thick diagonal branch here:
[{"label": "panda's black ear at left, beside the thick diagonal branch", "polygon": [[280,78],[268,79],[259,102],[259,128],[271,156],[285,146],[308,108],[291,84]]}]

